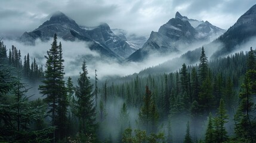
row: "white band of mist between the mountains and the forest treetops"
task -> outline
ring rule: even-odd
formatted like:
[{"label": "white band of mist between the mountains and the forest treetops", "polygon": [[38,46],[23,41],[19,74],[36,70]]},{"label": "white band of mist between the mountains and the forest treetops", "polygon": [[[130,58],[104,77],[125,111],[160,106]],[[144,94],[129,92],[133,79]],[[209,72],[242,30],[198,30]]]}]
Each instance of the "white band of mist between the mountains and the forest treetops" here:
[{"label": "white band of mist between the mountains and the forest treetops", "polygon": [[[187,50],[193,50],[198,48],[202,43],[193,43],[192,45],[184,46],[180,45],[179,48],[181,52],[178,54],[168,54],[162,56],[160,54],[152,54],[147,57],[144,61],[138,62],[124,62],[119,63],[113,59],[101,58],[101,55],[92,51],[89,46],[90,42],[84,41],[64,41],[63,39],[57,39],[58,42],[61,42],[63,48],[63,58],[64,58],[64,71],[65,76],[78,76],[79,71],[81,71],[82,61],[85,59],[87,62],[87,69],[90,77],[94,77],[94,71],[97,70],[98,78],[109,76],[126,76],[133,73],[138,73],[139,71],[146,69],[147,67],[157,66],[160,63],[171,60],[172,58],[177,58],[181,54],[184,54]],[[45,55],[47,51],[51,48],[51,43],[53,41],[42,42],[39,39],[36,40],[35,46],[33,45],[24,45],[23,43],[17,41],[4,41],[7,49],[11,48],[11,45],[16,46],[17,49],[20,49],[21,60],[23,61],[24,55],[29,53],[30,61],[33,58],[36,59],[36,63],[39,65],[45,66]],[[88,58],[89,57],[89,58]],[[175,63],[174,63],[175,64]]]}]

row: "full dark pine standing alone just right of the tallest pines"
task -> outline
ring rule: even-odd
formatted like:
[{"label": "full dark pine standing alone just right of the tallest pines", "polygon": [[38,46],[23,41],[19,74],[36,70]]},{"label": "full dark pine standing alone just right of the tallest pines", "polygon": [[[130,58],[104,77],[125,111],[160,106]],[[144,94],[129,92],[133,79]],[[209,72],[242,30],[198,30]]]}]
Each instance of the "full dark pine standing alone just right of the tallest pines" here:
[{"label": "full dark pine standing alone just right of the tallest pines", "polygon": [[79,131],[85,135],[92,134],[95,137],[95,105],[94,94],[92,91],[92,84],[90,77],[88,77],[87,66],[85,61],[82,63],[82,73],[78,79],[78,86],[76,86],[75,95],[76,101],[76,116],[79,119]]}]

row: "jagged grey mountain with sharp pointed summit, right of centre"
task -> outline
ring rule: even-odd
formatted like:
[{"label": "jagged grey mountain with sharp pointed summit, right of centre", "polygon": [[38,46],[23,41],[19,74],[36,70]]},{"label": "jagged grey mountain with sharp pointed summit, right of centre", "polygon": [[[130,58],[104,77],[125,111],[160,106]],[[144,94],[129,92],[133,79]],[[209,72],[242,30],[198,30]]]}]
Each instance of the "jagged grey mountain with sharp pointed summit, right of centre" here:
[{"label": "jagged grey mountain with sharp pointed summit, right of centre", "polygon": [[210,42],[212,33],[221,32],[223,29],[213,26],[208,21],[192,20],[177,12],[175,18],[162,25],[158,32],[152,32],[143,47],[131,54],[127,60],[142,61],[151,54],[180,52],[181,44],[190,46],[195,42]]}]

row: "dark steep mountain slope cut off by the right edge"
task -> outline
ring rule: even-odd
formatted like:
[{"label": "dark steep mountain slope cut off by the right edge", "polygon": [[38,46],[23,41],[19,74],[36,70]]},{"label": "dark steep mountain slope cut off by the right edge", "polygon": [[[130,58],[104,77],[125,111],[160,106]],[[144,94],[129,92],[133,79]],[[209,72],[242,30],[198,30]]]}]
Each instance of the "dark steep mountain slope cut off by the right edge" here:
[{"label": "dark steep mountain slope cut off by the right edge", "polygon": [[[253,5],[245,14],[243,14],[236,23],[230,27],[227,32],[221,35],[215,42],[221,42],[223,45],[218,47],[213,57],[227,55],[239,48],[239,45],[250,41],[256,36],[256,5]],[[253,46],[253,45],[251,45]]]}]

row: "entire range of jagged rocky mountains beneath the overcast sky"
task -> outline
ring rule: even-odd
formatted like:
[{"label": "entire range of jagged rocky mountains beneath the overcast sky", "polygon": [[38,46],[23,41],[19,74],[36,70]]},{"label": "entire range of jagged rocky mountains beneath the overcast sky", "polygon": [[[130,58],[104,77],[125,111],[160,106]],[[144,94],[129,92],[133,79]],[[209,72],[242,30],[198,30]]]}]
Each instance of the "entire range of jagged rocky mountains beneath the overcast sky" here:
[{"label": "entire range of jagged rocky mountains beneath the overcast sky", "polygon": [[[122,29],[110,29],[106,23],[95,27],[79,26],[74,20],[58,11],[38,29],[23,33],[19,40],[27,44],[35,44],[38,38],[49,41],[54,33],[67,41],[79,39],[90,42],[90,49],[99,52],[101,57],[118,61],[143,61],[151,54],[179,53],[180,44],[189,47],[197,42],[209,43],[205,45],[206,49],[212,44],[223,43],[215,46],[218,51],[212,55],[212,57],[220,57],[229,54],[238,45],[256,36],[256,6],[243,14],[227,31],[208,21],[190,19],[177,12],[175,18],[162,25],[158,32],[152,31],[148,39],[129,35]],[[193,55],[193,52],[189,53]]]}]

